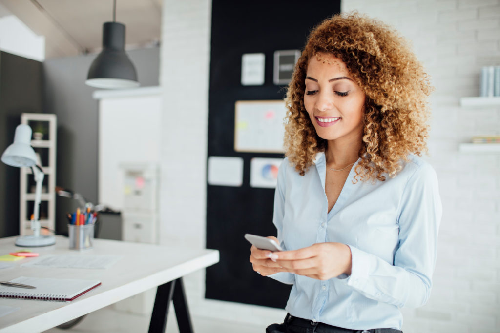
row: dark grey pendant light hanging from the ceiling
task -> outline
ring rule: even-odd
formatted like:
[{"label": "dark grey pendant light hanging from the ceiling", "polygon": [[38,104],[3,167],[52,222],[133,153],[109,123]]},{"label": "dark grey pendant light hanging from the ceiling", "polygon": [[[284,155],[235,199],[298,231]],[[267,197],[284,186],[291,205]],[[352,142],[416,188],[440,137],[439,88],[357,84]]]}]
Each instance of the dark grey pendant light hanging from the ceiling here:
[{"label": "dark grey pendant light hanging from the ceiling", "polygon": [[113,0],[113,21],[102,26],[102,51],[88,70],[85,84],[105,89],[138,87],[137,73],[125,53],[125,25],[115,21],[116,0]]}]

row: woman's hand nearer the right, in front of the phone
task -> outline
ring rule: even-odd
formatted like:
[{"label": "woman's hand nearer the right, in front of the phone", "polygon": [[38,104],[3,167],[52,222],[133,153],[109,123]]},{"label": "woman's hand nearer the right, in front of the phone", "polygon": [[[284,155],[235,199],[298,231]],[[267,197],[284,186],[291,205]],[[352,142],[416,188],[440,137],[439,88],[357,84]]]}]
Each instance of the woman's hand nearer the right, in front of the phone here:
[{"label": "woman's hand nearer the right, in front of the phone", "polygon": [[316,243],[306,248],[273,252],[275,260],[287,272],[317,280],[328,280],[341,274],[350,275],[350,248],[341,243]]}]

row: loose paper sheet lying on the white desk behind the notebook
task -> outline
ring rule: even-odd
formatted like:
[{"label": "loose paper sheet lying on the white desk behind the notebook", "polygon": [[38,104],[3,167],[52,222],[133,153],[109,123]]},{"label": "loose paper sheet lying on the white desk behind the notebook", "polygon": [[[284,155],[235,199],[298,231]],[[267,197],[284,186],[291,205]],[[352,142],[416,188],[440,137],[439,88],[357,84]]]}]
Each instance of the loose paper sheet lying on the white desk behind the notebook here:
[{"label": "loose paper sheet lying on the white desk behind the notebook", "polygon": [[121,258],[122,256],[112,255],[53,255],[23,264],[21,267],[106,269]]}]

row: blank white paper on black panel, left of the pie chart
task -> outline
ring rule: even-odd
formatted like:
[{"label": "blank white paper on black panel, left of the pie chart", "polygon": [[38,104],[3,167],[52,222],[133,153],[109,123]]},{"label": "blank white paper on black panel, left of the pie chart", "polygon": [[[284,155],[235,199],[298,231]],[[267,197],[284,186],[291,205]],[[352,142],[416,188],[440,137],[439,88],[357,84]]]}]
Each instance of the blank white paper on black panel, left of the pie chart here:
[{"label": "blank white paper on black panel, left of the pie chart", "polygon": [[239,187],[243,184],[241,157],[208,157],[208,184]]}]

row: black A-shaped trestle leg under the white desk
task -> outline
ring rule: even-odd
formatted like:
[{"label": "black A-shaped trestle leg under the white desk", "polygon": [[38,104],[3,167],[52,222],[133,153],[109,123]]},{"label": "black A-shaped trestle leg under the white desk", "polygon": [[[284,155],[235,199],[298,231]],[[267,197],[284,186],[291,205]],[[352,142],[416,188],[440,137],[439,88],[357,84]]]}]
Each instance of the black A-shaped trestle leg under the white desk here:
[{"label": "black A-shaped trestle leg under the white desk", "polygon": [[166,328],[166,319],[168,316],[168,306],[173,301],[175,317],[179,333],[193,333],[189,310],[182,285],[182,278],[165,283],[156,289],[153,312],[149,322],[148,333],[164,333]]}]

